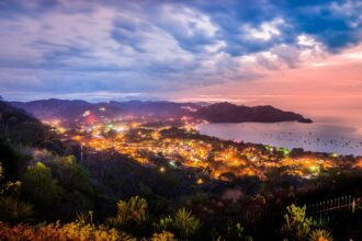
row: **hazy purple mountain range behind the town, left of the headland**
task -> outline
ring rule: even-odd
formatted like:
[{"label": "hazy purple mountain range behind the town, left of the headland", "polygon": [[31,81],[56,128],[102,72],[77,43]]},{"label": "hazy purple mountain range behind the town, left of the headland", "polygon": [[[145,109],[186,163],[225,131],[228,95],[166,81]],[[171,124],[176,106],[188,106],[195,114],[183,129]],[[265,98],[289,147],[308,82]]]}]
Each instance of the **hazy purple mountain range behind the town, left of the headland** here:
[{"label": "hazy purple mountain range behind the town, left of the headland", "polygon": [[86,112],[95,116],[118,117],[118,116],[155,116],[160,118],[180,117],[190,115],[201,107],[193,103],[174,103],[165,101],[127,101],[127,102],[104,102],[89,103],[86,101],[68,100],[41,100],[32,102],[12,102],[16,107],[23,108],[39,119],[63,119],[73,120],[81,118]]}]

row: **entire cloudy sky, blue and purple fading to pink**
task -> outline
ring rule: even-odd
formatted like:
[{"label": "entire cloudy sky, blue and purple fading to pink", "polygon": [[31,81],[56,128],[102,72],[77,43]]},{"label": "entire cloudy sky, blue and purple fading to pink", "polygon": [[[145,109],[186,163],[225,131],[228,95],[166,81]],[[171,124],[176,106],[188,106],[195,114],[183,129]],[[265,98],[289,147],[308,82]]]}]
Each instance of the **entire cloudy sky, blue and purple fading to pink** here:
[{"label": "entire cloudy sky, blue and purple fading to pink", "polygon": [[0,95],[231,101],[362,124],[362,1],[0,0]]}]

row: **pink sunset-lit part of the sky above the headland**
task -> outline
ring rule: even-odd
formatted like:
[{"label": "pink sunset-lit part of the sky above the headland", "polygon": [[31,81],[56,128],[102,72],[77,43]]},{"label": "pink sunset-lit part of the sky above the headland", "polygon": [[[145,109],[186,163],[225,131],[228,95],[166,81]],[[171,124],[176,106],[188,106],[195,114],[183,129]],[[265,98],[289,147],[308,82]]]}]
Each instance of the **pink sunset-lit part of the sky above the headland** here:
[{"label": "pink sunset-lit part of the sky above the headland", "polygon": [[259,80],[227,82],[179,95],[183,100],[207,96],[218,101],[223,96],[246,105],[271,104],[317,120],[337,117],[362,126],[362,45],[307,58],[298,68],[264,72]]}]

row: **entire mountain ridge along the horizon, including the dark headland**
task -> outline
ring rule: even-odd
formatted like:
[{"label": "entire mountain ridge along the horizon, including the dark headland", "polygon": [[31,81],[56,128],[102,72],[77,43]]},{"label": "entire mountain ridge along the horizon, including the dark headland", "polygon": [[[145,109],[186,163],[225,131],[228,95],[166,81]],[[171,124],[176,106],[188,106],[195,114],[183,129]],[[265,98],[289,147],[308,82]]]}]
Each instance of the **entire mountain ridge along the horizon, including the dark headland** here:
[{"label": "entire mountain ridge along the horizon, including the dark headland", "polygon": [[230,103],[217,103],[201,105],[196,103],[176,103],[166,101],[128,101],[128,102],[106,102],[89,103],[86,101],[67,100],[42,100],[32,102],[12,102],[13,105],[24,108],[41,119],[58,118],[63,120],[73,120],[81,118],[86,112],[95,116],[121,117],[133,115],[152,116],[158,118],[190,116],[202,118],[212,123],[241,123],[241,122],[287,122],[296,120],[310,123],[293,112],[284,112],[273,106],[234,105]]}]

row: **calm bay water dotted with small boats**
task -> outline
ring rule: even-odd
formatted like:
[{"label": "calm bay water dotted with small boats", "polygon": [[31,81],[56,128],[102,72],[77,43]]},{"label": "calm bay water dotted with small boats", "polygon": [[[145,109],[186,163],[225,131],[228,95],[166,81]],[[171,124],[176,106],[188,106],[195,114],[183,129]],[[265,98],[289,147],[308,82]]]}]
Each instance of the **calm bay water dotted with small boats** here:
[{"label": "calm bay water dotted with small boats", "polygon": [[208,136],[274,147],[362,156],[362,131],[357,127],[325,123],[238,123],[201,124],[196,129]]}]

